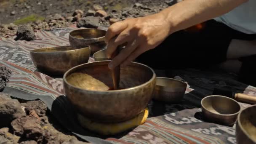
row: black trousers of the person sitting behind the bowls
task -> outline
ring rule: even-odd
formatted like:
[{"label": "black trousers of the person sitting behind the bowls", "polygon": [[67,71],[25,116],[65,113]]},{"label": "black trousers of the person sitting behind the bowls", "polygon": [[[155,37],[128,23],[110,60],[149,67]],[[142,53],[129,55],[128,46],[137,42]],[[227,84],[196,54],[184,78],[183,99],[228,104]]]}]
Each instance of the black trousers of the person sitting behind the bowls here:
[{"label": "black trousers of the person sitting behind the bowls", "polygon": [[[156,48],[141,54],[136,61],[155,69],[207,68],[227,60],[227,49],[232,39],[256,39],[254,34],[236,31],[215,20],[204,24],[197,32],[181,30],[171,34]],[[247,65],[250,64],[247,62]]]}]

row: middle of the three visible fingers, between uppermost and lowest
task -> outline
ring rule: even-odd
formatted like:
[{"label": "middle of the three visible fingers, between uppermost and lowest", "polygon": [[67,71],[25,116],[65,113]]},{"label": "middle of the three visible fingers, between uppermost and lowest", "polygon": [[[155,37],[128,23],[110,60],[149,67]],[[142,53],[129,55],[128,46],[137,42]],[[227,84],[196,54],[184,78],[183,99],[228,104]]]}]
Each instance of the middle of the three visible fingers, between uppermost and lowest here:
[{"label": "middle of the three visible fingers, between uppermost and lowest", "polygon": [[113,37],[111,40],[109,40],[109,43],[107,45],[107,50],[106,50],[107,57],[110,59],[110,57],[112,56],[112,53],[116,50],[118,45],[127,43],[128,41],[131,40],[131,38],[132,37],[130,36],[129,31],[124,30],[117,37]]}]

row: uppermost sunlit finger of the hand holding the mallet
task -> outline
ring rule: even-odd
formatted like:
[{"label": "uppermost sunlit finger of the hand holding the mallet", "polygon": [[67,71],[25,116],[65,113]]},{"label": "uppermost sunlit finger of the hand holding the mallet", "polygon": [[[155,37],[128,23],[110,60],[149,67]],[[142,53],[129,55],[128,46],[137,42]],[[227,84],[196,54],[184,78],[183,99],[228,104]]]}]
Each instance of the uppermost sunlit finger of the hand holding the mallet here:
[{"label": "uppermost sunlit finger of the hand holding the mallet", "polygon": [[128,27],[128,23],[126,21],[118,21],[112,24],[105,35],[105,42],[108,43],[116,35],[120,34],[124,29]]}]

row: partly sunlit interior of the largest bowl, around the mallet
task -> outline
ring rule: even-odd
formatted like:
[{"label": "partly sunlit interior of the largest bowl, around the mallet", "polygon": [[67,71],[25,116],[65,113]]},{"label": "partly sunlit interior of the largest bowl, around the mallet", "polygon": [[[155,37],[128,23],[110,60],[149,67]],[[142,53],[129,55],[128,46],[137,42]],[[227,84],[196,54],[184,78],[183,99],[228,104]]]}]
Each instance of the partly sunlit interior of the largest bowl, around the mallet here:
[{"label": "partly sunlit interior of the largest bowl, around the mallet", "polygon": [[[108,68],[109,61],[97,61],[84,64],[67,72],[66,80],[72,86],[90,91],[108,91],[113,88],[112,73]],[[155,76],[149,67],[131,63],[120,67],[120,89],[142,85]]]}]

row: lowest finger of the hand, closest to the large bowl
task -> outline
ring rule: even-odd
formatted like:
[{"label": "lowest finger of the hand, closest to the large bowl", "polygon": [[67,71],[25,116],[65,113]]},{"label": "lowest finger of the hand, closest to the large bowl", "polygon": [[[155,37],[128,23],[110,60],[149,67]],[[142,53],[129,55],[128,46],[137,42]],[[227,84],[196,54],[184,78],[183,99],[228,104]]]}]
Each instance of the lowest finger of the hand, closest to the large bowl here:
[{"label": "lowest finger of the hand, closest to the large bowl", "polygon": [[120,65],[138,46],[139,42],[137,40],[128,43],[128,45],[109,63],[109,69],[114,69],[116,66]]}]

